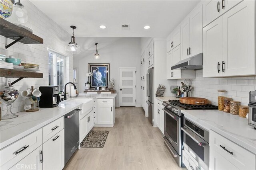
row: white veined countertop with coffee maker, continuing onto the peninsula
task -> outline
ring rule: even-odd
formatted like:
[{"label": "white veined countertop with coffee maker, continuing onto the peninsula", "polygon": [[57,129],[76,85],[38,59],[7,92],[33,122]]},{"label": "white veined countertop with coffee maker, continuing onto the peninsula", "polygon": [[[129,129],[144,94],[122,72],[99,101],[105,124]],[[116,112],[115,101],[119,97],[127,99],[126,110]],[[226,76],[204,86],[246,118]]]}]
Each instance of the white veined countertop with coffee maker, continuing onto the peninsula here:
[{"label": "white veined countertop with coffee maker, continuing onto the peninsula", "polygon": [[[78,98],[115,98],[117,94],[82,94]],[[11,143],[25,137],[26,135],[42,128],[48,123],[58,119],[66,113],[82,106],[82,102],[72,102],[68,99],[60,102],[59,106],[53,108],[39,108],[39,111],[28,113],[22,111],[15,113],[19,115],[13,119],[0,121],[0,149],[10,145]]]}]

